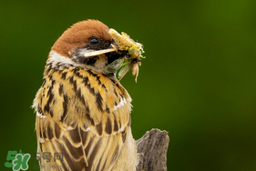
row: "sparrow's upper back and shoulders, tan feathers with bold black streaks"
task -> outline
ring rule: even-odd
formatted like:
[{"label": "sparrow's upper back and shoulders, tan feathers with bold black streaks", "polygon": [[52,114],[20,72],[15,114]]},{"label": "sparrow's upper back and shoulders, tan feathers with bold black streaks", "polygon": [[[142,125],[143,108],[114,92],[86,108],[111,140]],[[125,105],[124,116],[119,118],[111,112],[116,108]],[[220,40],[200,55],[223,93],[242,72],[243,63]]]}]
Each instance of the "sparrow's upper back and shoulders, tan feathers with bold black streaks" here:
[{"label": "sparrow's upper back and shoulders, tan feathers with bold black streaks", "polygon": [[118,80],[81,67],[47,68],[36,99],[40,115],[66,129],[94,126],[100,136],[119,131],[130,121],[131,98]]}]

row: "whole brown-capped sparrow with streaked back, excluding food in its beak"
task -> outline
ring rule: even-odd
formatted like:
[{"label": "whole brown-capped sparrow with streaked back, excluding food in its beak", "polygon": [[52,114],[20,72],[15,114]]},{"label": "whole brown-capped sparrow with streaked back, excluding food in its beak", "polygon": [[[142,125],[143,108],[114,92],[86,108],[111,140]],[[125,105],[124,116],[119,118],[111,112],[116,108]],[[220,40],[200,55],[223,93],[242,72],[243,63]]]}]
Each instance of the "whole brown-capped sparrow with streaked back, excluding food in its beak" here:
[{"label": "whole brown-capped sparrow with streaked back, excluding food in its beak", "polygon": [[108,51],[118,46],[108,31],[100,21],[81,21],[51,48],[33,102],[41,170],[136,170],[131,97],[108,67],[127,52]]}]

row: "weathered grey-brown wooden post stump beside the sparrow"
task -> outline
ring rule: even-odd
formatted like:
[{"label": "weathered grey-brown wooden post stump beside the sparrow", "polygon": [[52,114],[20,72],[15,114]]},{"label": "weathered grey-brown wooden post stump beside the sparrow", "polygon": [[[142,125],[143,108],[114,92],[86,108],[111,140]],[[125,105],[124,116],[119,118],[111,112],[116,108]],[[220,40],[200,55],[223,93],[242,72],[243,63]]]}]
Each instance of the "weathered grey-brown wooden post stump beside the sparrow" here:
[{"label": "weathered grey-brown wooden post stump beside the sparrow", "polygon": [[151,129],[136,141],[139,162],[137,171],[166,171],[168,132]]}]

